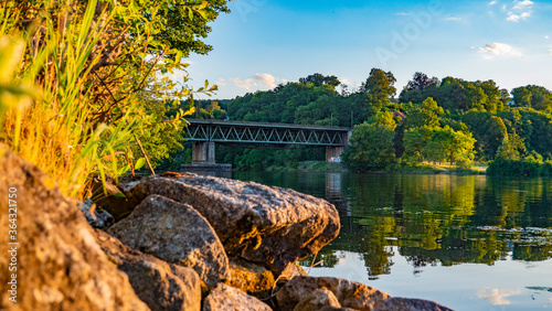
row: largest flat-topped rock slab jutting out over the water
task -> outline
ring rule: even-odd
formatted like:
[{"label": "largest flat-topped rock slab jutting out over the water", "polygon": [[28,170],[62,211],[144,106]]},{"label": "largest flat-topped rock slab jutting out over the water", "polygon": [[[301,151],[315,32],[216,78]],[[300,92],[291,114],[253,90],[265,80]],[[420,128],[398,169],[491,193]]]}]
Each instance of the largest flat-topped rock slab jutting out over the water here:
[{"label": "largest flat-topped rock slab jutting out over the water", "polygon": [[230,257],[282,272],[339,234],[333,205],[293,190],[212,176],[149,176],[120,184],[141,202],[159,194],[192,205],[215,228]]}]

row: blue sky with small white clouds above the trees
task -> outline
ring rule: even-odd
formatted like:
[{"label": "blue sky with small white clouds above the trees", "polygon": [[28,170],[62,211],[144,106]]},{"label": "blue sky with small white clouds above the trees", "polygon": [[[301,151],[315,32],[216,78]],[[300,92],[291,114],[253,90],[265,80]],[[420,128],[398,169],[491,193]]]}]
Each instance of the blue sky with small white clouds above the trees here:
[{"label": "blue sky with small white clouds above the trees", "polygon": [[415,72],[552,89],[552,1],[234,0],[229,8],[210,24],[213,51],[187,60],[188,85],[209,79],[219,86],[212,98],[314,73],[353,88],[373,67],[393,73],[397,95]]}]

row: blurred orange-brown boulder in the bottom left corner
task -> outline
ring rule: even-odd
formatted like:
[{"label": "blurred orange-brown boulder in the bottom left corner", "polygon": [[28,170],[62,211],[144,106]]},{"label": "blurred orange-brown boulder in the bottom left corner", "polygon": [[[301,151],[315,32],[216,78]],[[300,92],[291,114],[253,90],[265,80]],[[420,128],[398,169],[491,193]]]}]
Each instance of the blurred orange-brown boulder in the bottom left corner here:
[{"label": "blurred orange-brown boulder in the bottom left corner", "polygon": [[[149,310],[128,277],[108,261],[76,202],[3,144],[0,154],[0,245],[15,250],[0,256],[0,309]],[[17,217],[9,216],[15,208]],[[17,234],[10,233],[17,239],[9,239],[8,224],[17,225]]]}]

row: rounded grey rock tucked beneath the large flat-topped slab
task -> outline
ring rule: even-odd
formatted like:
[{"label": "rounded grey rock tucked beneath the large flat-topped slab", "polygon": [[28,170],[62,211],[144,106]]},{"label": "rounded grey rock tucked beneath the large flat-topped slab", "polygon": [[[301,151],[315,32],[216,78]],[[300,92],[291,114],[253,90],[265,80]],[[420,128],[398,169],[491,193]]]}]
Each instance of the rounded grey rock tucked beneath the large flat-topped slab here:
[{"label": "rounded grey rock tucked beneath the large flat-topped slab", "polygon": [[211,288],[230,277],[224,247],[190,205],[150,195],[107,232],[134,249],[194,269]]}]

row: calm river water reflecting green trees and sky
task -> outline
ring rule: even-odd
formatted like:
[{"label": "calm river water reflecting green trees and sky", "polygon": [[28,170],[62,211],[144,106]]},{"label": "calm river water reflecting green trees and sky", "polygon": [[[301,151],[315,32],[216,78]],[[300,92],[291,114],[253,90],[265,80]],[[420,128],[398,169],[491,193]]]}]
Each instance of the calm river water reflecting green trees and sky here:
[{"label": "calm river water reflecting green trees and sky", "polygon": [[[552,179],[234,173],[333,203],[341,233],[311,276],[456,310],[552,309]],[[311,259],[300,264],[307,267]]]}]

